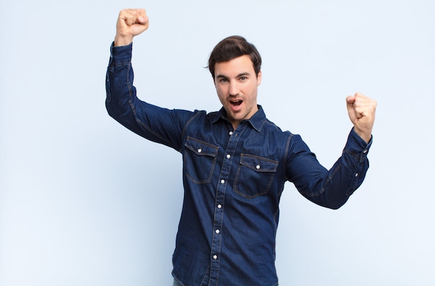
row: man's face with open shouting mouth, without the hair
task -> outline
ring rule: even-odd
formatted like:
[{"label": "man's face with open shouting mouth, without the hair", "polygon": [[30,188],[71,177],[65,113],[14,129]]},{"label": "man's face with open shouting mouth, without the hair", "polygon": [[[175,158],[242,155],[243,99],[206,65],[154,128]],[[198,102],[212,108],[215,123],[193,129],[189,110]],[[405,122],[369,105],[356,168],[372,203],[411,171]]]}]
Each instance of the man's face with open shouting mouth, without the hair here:
[{"label": "man's face with open shouting mouth, without the hair", "polygon": [[256,76],[248,55],[215,64],[215,87],[227,118],[236,129],[240,121],[251,118],[256,111],[257,89],[261,72]]}]

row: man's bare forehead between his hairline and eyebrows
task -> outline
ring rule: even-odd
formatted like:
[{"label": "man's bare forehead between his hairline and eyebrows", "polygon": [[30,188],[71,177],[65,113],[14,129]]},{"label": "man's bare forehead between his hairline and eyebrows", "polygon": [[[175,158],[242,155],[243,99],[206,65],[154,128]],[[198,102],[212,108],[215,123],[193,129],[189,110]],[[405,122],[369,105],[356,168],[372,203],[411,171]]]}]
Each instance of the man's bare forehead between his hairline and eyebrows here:
[{"label": "man's bare forehead between his hairline and eyebrows", "polygon": [[238,74],[254,74],[254,64],[249,55],[238,56],[229,61],[215,64],[215,76],[236,77]]}]

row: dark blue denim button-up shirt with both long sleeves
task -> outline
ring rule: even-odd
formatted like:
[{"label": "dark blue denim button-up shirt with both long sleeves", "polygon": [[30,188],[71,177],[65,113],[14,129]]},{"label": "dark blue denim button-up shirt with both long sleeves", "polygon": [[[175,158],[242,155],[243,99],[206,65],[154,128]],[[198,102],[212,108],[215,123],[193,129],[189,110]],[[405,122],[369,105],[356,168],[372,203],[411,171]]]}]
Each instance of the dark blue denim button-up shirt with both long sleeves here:
[{"label": "dark blue denim button-up shirt with both long sleeves", "polygon": [[183,156],[175,280],[189,286],[278,285],[275,237],[284,183],[337,209],[363,182],[371,141],[352,129],[342,156],[327,170],[299,135],[282,132],[261,106],[234,130],[224,109],[170,110],[142,102],[133,86],[131,49],[110,49],[106,108],[131,131]]}]

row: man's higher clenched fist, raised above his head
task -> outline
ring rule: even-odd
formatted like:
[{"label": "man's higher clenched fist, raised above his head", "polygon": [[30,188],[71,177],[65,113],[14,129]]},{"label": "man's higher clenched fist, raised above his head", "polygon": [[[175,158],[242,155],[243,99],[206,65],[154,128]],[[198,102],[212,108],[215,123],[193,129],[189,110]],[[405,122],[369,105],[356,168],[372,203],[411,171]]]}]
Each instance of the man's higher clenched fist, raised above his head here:
[{"label": "man's higher clenched fist, raised above his head", "polygon": [[149,19],[145,9],[124,9],[116,23],[115,46],[129,45],[133,37],[147,30]]}]

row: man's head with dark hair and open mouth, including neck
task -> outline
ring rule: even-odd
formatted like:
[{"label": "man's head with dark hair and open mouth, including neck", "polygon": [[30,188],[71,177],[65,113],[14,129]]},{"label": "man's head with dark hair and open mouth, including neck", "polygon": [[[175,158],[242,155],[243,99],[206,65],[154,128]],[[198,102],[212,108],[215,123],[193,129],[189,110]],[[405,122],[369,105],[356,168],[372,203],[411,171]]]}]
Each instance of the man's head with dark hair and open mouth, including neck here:
[{"label": "man's head with dark hair and open mouth, including neck", "polygon": [[231,36],[213,49],[208,68],[227,118],[236,129],[240,121],[251,118],[258,111],[261,56],[244,38]]}]

